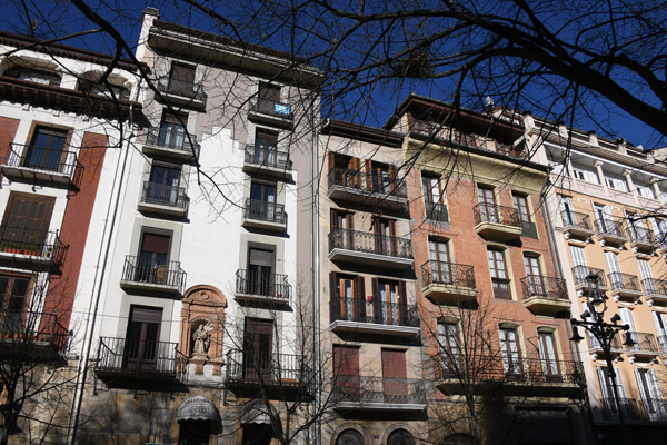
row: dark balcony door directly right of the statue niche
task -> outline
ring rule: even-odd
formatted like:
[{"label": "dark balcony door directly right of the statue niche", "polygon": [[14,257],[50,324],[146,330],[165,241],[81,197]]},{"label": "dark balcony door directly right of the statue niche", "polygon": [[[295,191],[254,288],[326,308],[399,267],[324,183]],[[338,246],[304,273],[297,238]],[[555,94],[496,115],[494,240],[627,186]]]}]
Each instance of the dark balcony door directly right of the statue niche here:
[{"label": "dark balcony door directly right of the statue niche", "polygon": [[273,320],[246,318],[243,330],[243,378],[271,382]]}]

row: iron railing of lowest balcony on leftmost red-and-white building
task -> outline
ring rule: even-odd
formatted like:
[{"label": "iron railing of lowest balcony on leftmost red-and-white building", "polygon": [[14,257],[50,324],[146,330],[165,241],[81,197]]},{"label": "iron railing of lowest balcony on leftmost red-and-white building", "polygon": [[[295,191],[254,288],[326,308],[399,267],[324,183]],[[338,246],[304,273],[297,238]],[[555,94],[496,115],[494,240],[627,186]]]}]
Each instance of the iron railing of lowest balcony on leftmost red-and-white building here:
[{"label": "iron railing of lowest balcony on leftmost red-and-white building", "polygon": [[11,340],[21,347],[49,345],[63,353],[69,332],[58,322],[56,313],[32,310],[0,312],[0,338]]}]

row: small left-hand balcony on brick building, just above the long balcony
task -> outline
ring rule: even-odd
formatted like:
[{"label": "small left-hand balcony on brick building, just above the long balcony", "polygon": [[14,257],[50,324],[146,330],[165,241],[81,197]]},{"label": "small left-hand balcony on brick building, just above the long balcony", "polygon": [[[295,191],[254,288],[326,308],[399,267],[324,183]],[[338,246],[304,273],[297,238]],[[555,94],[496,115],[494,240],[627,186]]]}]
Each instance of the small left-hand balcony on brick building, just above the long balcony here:
[{"label": "small left-hand balcony on brick building, just above the long balcony", "polygon": [[430,260],[421,265],[421,293],[435,305],[458,306],[477,299],[475,268]]}]

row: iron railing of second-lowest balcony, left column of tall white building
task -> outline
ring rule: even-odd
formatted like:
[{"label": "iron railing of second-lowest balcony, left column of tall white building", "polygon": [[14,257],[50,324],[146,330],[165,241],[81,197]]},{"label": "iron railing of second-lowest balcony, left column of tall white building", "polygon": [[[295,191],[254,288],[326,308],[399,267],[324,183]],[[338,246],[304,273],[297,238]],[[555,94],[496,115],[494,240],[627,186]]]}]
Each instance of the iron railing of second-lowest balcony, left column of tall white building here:
[{"label": "iron railing of second-lowest balcony, left column of tall white building", "polygon": [[128,255],[122,269],[122,280],[176,287],[182,291],[186,273],[181,269],[180,261]]}]

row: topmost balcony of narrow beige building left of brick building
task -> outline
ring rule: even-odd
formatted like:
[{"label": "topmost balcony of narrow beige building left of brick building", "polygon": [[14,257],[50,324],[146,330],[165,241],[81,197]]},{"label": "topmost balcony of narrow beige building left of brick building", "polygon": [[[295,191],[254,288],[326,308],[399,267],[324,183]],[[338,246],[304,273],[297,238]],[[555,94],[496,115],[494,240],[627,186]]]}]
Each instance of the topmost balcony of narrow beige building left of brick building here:
[{"label": "topmost balcony of narrow beige building left of brick building", "polygon": [[378,176],[347,168],[332,168],[328,175],[329,197],[349,202],[397,210],[408,205],[406,184],[387,174]]}]

